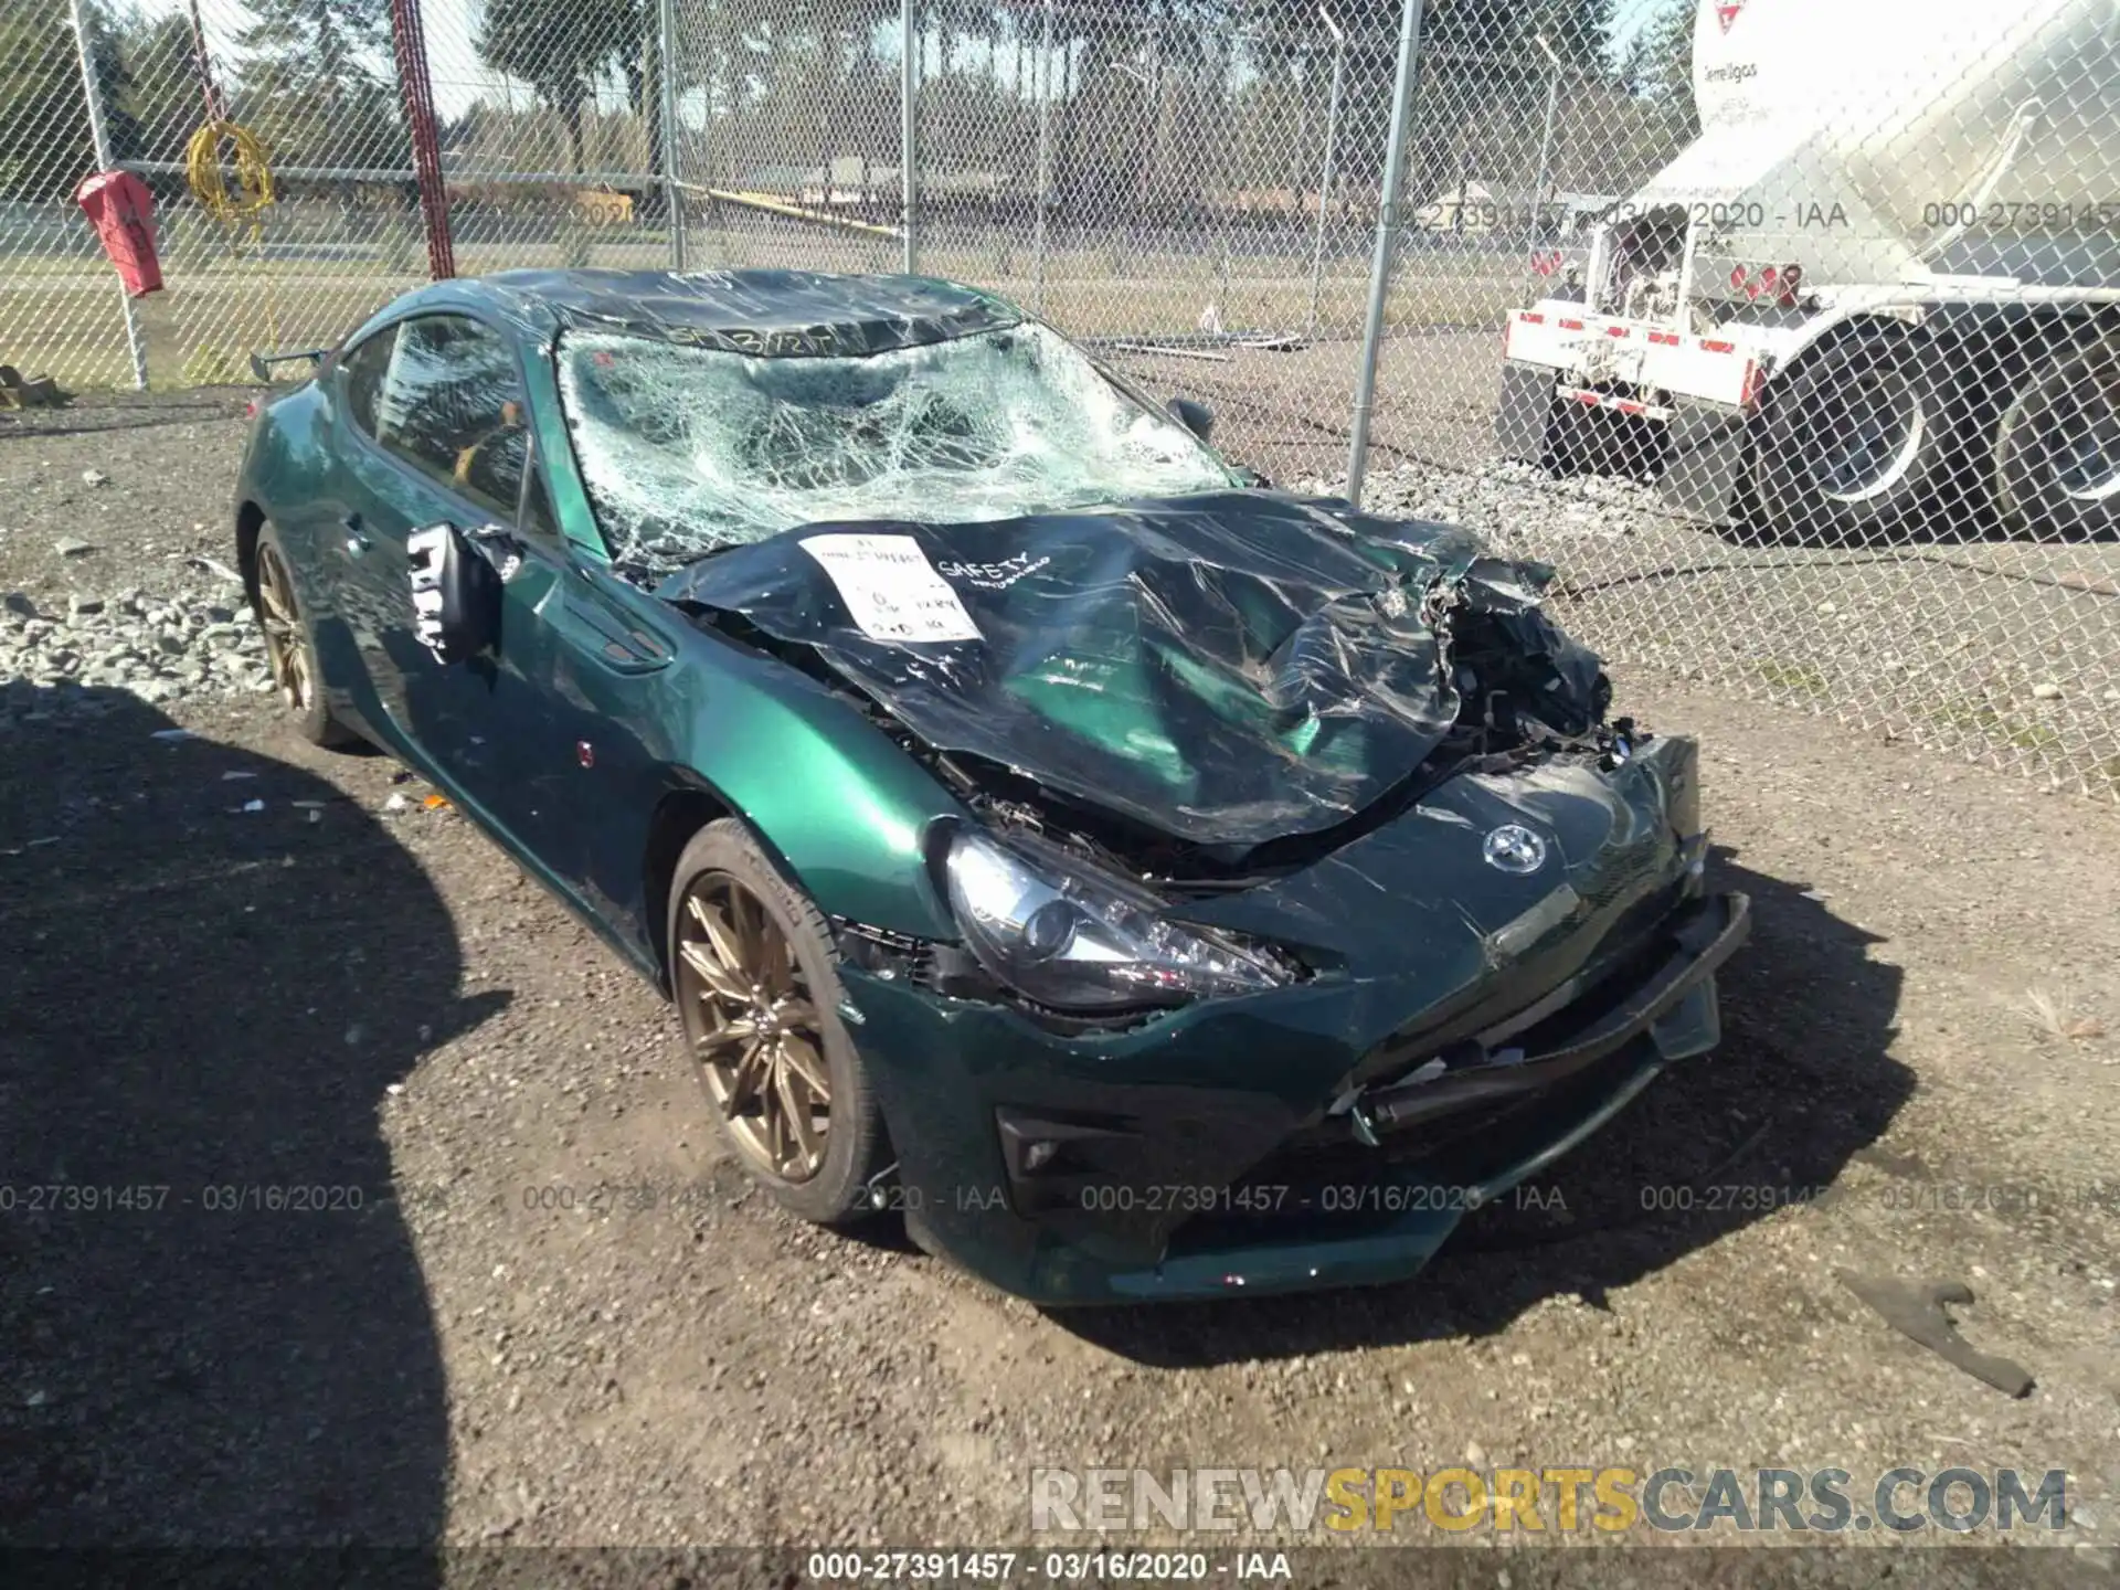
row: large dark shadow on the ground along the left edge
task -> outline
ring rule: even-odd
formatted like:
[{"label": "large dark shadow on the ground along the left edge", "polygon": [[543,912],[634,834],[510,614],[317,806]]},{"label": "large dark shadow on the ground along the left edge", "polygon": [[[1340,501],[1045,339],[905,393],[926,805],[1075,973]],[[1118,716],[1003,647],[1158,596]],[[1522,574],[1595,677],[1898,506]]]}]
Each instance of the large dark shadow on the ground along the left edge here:
[{"label": "large dark shadow on the ground along the left edge", "polygon": [[170,727],[117,691],[0,723],[0,1539],[432,1543],[379,1115],[494,1001],[377,820]]}]

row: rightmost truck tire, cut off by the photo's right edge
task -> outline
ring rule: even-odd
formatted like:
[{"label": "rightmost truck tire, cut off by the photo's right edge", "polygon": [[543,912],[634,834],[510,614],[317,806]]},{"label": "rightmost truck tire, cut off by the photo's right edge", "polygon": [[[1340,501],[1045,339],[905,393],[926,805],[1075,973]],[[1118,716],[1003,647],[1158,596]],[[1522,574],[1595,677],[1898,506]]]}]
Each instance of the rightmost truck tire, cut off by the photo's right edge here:
[{"label": "rightmost truck tire, cut off by the photo's right edge", "polygon": [[2035,536],[2120,534],[2120,339],[2033,371],[1995,428],[1995,505]]}]

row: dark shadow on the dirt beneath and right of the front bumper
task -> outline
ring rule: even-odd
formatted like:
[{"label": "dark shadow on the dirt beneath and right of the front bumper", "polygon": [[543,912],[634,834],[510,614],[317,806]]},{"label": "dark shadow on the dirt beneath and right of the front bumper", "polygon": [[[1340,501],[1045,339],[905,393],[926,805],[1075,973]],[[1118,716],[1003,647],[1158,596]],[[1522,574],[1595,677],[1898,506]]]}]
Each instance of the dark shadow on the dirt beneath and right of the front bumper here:
[{"label": "dark shadow on the dirt beneath and right of the front bumper", "polygon": [[1414,1280],[1168,1308],[1071,1308],[1062,1329],[1147,1365],[1194,1367],[1490,1336],[1554,1295],[1594,1308],[1696,1249],[1834,1183],[1914,1090],[1887,1054],[1900,969],[1802,882],[1728,850],[1713,888],[1753,901],[1721,973],[1724,1043],[1671,1066],[1533,1183],[1473,1213]]}]

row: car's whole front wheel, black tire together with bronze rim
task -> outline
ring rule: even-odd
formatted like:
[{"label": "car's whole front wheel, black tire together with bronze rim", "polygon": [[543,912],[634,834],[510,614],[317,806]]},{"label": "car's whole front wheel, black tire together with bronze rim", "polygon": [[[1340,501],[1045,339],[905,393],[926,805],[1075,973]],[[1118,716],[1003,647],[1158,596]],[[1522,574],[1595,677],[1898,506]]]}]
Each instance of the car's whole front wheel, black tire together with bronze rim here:
[{"label": "car's whole front wheel, black tire together with bronze rim", "polygon": [[865,1217],[888,1143],[816,905],[723,818],[678,856],[664,931],[685,1052],[723,1141],[793,1215]]}]

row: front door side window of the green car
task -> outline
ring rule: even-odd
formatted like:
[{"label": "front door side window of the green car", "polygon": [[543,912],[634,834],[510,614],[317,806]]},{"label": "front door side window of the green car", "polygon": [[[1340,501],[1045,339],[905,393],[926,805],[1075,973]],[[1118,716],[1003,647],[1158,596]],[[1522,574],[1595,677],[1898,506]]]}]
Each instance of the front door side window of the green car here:
[{"label": "front door side window of the green car", "polygon": [[515,354],[462,316],[399,322],[375,437],[496,519],[513,519],[530,452]]}]

